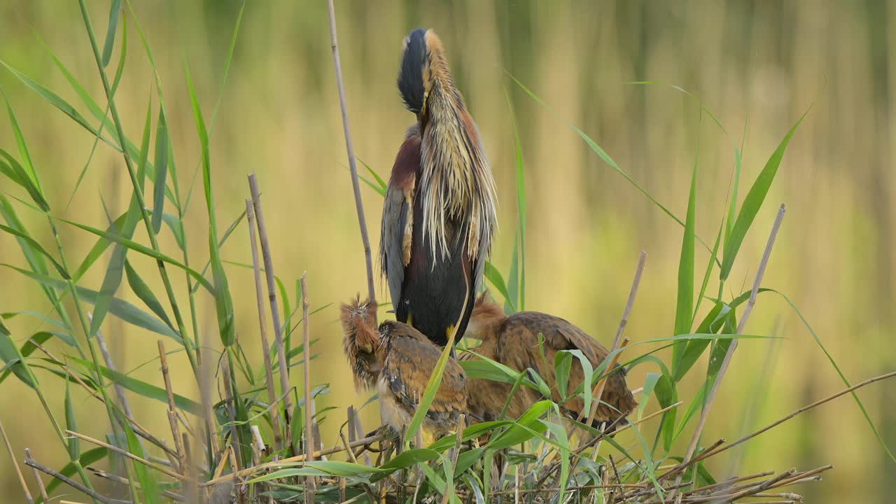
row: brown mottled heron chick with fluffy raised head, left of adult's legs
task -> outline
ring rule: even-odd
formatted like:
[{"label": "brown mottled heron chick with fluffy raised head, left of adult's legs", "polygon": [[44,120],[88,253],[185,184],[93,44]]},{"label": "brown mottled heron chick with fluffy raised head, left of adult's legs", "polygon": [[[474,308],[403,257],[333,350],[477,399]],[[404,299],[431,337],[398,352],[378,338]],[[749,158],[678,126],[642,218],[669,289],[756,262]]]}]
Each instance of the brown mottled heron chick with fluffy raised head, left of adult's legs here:
[{"label": "brown mottled heron chick with fluffy raised head, left of adult's legs", "polygon": [[[342,346],[356,386],[375,386],[383,423],[401,431],[413,418],[442,349],[401,322],[387,320],[375,328],[374,309],[369,301],[342,305]],[[458,416],[466,411],[466,376],[450,359],[423,428],[432,436],[443,436],[454,430]]]}]

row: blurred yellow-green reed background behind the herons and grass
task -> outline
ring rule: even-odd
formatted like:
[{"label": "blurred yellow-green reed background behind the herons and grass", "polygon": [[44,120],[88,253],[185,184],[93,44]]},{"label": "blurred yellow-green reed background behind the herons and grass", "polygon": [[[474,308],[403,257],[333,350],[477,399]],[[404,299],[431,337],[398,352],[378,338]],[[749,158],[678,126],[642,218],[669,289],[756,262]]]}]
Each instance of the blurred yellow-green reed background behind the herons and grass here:
[{"label": "blurred yellow-green reed background behind the herons and grass", "polygon": [[[190,183],[199,161],[184,58],[210,117],[239,7],[236,0],[134,3],[165,85],[182,187]],[[90,8],[101,34],[108,2],[91,2]],[[0,58],[72,103],[79,102],[37,33],[99,100],[102,88],[77,4],[4,2],[0,13]],[[401,39],[412,28],[424,26],[444,40],[498,183],[501,232],[493,260],[504,272],[516,226],[513,127],[504,90],[509,92],[529,191],[527,307],[569,318],[604,342],[615,333],[642,248],[650,258],[627,335],[635,342],[671,335],[682,228],[600,161],[564,121],[581,127],[652,196],[681,216],[699,143],[697,233],[711,242],[728,196],[734,146],[743,142],[743,197],[788,128],[813,106],[790,144],[729,283],[737,286],[734,279],[743,278],[749,287],[778,204],[787,203],[763,286],[783,291],[796,303],[854,382],[896,367],[896,176],[891,161],[896,155],[896,127],[891,126],[896,117],[896,4],[343,1],[337,3],[337,14],[356,152],[383,177],[412,122],[395,89]],[[116,101],[128,135],[139,138],[151,74],[134,27],[129,28],[127,69]],[[505,70],[556,114],[531,100]],[[29,138],[50,204],[64,208],[90,153],[92,136],[5,70],[0,83]],[[706,114],[701,116],[697,102],[670,84],[699,96],[728,133]],[[219,221],[226,225],[243,210],[246,174],[257,172],[277,274],[292,291],[293,282],[307,270],[313,309],[366,290],[341,127],[325,3],[248,3],[211,141]],[[14,148],[5,117],[0,143]],[[378,247],[381,199],[369,187],[362,190],[373,245]],[[103,227],[107,221],[98,195],[117,215],[125,211],[130,192],[121,157],[100,143],[63,216]],[[204,236],[207,222],[196,208],[189,213],[188,226],[194,237]],[[45,221],[24,208],[20,214],[32,232],[52,240]],[[144,232],[138,227],[135,239],[145,241]],[[66,249],[78,260],[94,242],[71,227],[63,233]],[[223,249],[225,259],[251,262],[246,235],[241,226]],[[168,234],[163,248],[174,247]],[[193,261],[204,263],[208,251],[203,240],[194,238],[190,247]],[[0,235],[0,257],[22,263],[9,235]],[[137,267],[152,267],[144,256],[132,253],[129,258]],[[700,278],[707,258],[706,250],[698,247]],[[100,260],[82,284],[99,288],[107,262]],[[228,274],[237,334],[258,357],[252,274],[237,266],[228,266]],[[144,278],[153,282],[154,290],[160,288],[154,275]],[[714,282],[715,274],[711,292]],[[3,311],[49,309],[36,282],[4,269],[0,285]],[[387,300],[382,282],[379,292],[381,300]],[[125,288],[119,294],[134,300]],[[213,304],[200,299],[207,340],[218,345]],[[703,306],[709,308],[708,303]],[[339,407],[334,418],[323,423],[327,441],[335,439],[343,418],[343,413],[335,413],[362,404],[368,396],[356,394],[351,385],[336,317],[335,307],[323,309],[311,326],[313,337],[320,338],[314,347],[320,354],[313,364],[314,382],[332,387],[318,408]],[[16,335],[36,328],[33,319],[22,317],[9,325]],[[736,439],[842,388],[786,301],[762,294],[747,332],[770,335],[775,326],[784,338],[780,342],[745,340],[738,349],[716,405],[719,413],[712,417],[705,439]],[[120,369],[134,369],[155,354],[155,335],[115,317],[107,318],[103,332]],[[195,396],[185,356],[177,354],[170,362],[183,378],[176,380],[176,391]],[[705,362],[698,364],[703,366]],[[646,369],[631,373],[631,387],[641,386]],[[160,383],[158,362],[136,369],[134,376]],[[293,383],[300,384],[300,379],[301,373],[295,372]],[[62,384],[50,383],[56,384],[50,397],[61,409]],[[692,393],[697,383],[689,388]],[[884,439],[896,447],[896,388],[883,383],[859,395]],[[132,399],[135,415],[145,425],[165,429],[161,408],[137,396]],[[690,400],[690,395],[684,399]],[[86,433],[99,437],[108,430],[103,415],[89,416],[98,403],[86,395],[77,403]],[[16,448],[30,447],[50,465],[62,465],[65,453],[49,435],[46,417],[34,413],[38,409],[21,382],[4,384],[0,414]],[[89,418],[97,418],[98,424],[86,425]],[[378,423],[375,405],[366,408],[364,420],[367,429]],[[745,451],[733,451],[735,458],[728,464],[739,464],[742,473],[835,465],[825,482],[805,487],[813,502],[883,502],[896,490],[896,465],[849,397],[754,439]],[[6,456],[0,460],[0,467],[8,467]],[[3,495],[19,495],[11,471],[0,469],[0,477]]]}]

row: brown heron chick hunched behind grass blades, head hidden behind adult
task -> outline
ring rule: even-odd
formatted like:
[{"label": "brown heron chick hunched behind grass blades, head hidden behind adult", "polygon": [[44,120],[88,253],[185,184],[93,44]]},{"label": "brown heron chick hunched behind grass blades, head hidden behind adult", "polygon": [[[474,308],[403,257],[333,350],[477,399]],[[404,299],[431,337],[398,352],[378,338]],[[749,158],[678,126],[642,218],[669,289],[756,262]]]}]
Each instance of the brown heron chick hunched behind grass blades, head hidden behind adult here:
[{"label": "brown heron chick hunched behind grass blades, head hidden behind adult", "polygon": [[[539,333],[544,336],[544,342],[540,346]],[[473,352],[518,371],[533,369],[554,391],[554,396],[551,397],[554,401],[563,399],[557,392],[554,373],[554,357],[557,352],[580,350],[594,367],[604,361],[609,353],[597,340],[563,318],[534,311],[524,311],[507,317],[497,303],[487,300],[485,293],[476,301],[466,335],[482,341],[480,346],[472,349]],[[542,348],[544,358],[541,354]],[[466,353],[461,356],[461,361],[476,358]],[[573,391],[579,387],[583,379],[582,364],[578,359],[573,359],[569,390]],[[467,391],[470,413],[484,420],[495,420],[511,393],[511,385],[486,379],[470,379]],[[542,395],[535,390],[520,387],[513,395],[507,414],[517,418],[532,404],[542,399]],[[600,404],[595,415],[594,427],[600,427],[602,423],[612,423],[617,418],[625,417],[632,412],[637,403],[625,384],[625,369],[616,368],[609,375],[602,400],[607,404]],[[582,412],[583,406],[582,397],[575,397],[563,404],[562,408],[565,413],[575,418]],[[623,419],[616,425],[625,423],[627,422]]]}]

